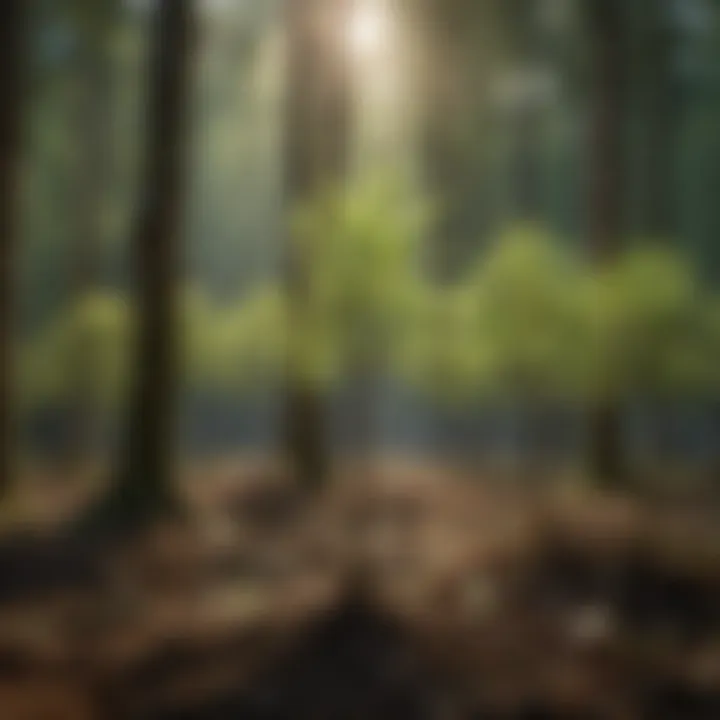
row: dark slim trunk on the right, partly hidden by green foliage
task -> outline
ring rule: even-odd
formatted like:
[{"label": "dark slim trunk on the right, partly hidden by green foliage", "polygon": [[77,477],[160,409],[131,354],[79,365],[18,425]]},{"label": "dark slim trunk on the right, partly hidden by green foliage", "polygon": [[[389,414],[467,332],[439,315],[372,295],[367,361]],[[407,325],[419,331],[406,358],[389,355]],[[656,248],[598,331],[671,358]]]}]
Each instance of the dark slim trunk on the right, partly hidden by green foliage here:
[{"label": "dark slim trunk on the right, partly hidden by green foliage", "polygon": [[[599,265],[612,262],[622,243],[625,74],[624,0],[587,0],[593,67],[591,134],[591,251]],[[611,399],[598,403],[590,421],[590,467],[604,484],[626,472],[622,409]]]}]

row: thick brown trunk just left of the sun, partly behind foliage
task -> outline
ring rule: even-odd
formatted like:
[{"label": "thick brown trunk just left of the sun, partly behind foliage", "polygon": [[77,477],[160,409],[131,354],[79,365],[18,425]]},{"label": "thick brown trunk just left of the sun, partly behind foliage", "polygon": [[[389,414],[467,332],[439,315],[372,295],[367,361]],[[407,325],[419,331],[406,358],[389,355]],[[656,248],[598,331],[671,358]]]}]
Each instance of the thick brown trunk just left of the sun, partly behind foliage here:
[{"label": "thick brown trunk just left of the sun, partly behind foliage", "polygon": [[[347,174],[352,99],[348,29],[353,0],[292,0],[287,3],[288,56],[285,137],[286,202],[312,201]],[[289,354],[304,342],[299,319],[307,311],[311,258],[289,238],[286,287],[294,320]],[[292,364],[292,362],[291,362]],[[288,371],[284,417],[285,450],[298,480],[322,485],[329,464],[326,408],[315,388]]]}]

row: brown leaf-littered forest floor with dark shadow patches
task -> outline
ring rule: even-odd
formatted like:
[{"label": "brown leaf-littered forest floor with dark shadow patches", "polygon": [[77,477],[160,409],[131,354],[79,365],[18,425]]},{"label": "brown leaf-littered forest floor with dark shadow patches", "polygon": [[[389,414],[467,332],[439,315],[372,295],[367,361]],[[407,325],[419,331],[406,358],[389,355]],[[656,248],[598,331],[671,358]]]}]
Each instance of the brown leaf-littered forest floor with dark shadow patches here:
[{"label": "brown leaf-littered forest floor with dark shadow patches", "polygon": [[311,502],[261,465],[201,475],[185,522],[113,547],[63,532],[90,485],[28,491],[0,534],[2,720],[720,718],[707,502],[408,463]]}]

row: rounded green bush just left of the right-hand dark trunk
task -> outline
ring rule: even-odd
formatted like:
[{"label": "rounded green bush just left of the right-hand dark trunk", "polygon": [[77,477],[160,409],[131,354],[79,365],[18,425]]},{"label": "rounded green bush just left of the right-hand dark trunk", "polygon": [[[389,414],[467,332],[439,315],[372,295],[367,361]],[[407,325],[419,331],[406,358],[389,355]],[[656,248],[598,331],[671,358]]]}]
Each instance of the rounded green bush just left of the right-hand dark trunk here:
[{"label": "rounded green bush just left of the right-hand dark trunk", "polygon": [[554,238],[533,227],[506,232],[458,286],[436,291],[410,353],[414,379],[451,401],[582,392],[583,279]]}]

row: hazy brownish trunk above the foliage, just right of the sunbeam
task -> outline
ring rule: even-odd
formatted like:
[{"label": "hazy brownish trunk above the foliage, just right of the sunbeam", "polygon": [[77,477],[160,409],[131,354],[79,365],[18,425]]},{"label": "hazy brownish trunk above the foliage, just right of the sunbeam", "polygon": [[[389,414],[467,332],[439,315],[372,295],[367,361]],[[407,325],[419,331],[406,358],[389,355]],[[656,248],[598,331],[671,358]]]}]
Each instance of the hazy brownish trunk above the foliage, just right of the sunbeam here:
[{"label": "hazy brownish trunk above the foliage, just right of the sunbeam", "polygon": [[506,4],[421,0],[415,11],[421,163],[439,208],[432,263],[443,281],[473,257],[473,243],[491,225],[478,184],[487,172],[493,80],[507,54]]}]

